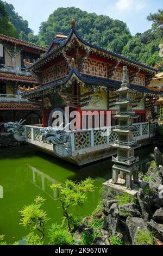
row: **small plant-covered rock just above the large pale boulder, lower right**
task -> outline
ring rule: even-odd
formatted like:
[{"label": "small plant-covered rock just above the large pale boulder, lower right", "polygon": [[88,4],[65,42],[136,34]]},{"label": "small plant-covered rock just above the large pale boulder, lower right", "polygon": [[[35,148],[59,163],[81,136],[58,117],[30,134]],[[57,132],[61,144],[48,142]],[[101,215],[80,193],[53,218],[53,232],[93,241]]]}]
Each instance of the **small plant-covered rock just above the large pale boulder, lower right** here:
[{"label": "small plant-covered rock just above the large pale boulder, lower right", "polygon": [[123,204],[119,206],[120,216],[122,217],[141,217],[140,212],[136,209],[136,205],[134,203],[131,204]]}]

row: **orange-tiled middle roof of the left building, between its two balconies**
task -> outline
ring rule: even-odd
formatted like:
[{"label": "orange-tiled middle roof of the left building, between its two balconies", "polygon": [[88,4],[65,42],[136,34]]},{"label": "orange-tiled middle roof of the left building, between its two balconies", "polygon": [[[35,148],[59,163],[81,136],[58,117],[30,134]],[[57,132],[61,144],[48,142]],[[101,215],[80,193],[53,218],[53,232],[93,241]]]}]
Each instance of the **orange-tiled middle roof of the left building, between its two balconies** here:
[{"label": "orange-tiled middle roof of the left building, between its two balconies", "polygon": [[26,83],[37,83],[35,78],[32,76],[21,76],[21,75],[8,74],[8,73],[3,73],[3,72],[0,72],[0,80],[26,82]]}]

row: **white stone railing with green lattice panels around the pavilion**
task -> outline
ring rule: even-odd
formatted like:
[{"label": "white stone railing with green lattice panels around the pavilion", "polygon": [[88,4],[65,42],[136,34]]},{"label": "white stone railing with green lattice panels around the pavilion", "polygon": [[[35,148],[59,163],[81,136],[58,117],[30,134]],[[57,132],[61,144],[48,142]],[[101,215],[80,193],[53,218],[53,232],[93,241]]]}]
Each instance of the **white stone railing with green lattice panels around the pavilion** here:
[{"label": "white stone railing with green lattice panels around the pavilion", "polygon": [[[156,123],[139,123],[133,124],[137,127],[137,131],[134,132],[134,139],[141,140],[147,139],[155,136]],[[41,132],[40,126],[29,126],[26,125],[26,139],[36,142],[41,142]],[[76,130],[68,131],[71,134],[71,148],[72,152],[83,150],[87,148],[96,148],[98,146],[107,145],[112,142],[117,141],[118,135],[113,132],[112,127],[103,127],[100,130],[90,129],[90,130]],[[45,142],[46,143],[46,142]],[[49,144],[49,143],[47,143]]]}]

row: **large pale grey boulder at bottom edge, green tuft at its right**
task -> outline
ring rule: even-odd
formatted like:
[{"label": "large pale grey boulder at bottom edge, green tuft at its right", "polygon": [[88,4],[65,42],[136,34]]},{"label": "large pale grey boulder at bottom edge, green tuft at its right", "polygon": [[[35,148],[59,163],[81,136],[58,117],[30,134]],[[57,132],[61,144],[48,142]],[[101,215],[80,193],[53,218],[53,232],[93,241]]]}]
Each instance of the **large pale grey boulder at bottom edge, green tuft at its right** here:
[{"label": "large pale grey boulder at bottom edge, green tuft at its right", "polygon": [[[142,218],[127,217],[126,224],[129,229],[133,245],[138,245],[137,234],[139,234],[139,230],[143,230],[146,233],[149,233],[147,224]],[[142,245],[147,245],[147,243],[142,243]]]}]

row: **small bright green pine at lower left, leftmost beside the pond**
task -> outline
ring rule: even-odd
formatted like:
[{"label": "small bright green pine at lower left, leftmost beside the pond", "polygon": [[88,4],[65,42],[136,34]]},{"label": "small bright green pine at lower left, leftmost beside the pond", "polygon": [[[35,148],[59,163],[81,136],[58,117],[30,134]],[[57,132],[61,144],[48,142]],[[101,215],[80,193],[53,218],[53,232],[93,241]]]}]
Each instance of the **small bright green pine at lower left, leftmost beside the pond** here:
[{"label": "small bright green pine at lower left, leftmost beside the pond", "polygon": [[[45,236],[45,223],[49,220],[46,212],[40,209],[43,202],[45,202],[45,199],[42,197],[36,197],[33,204],[24,206],[24,208],[20,211],[22,216],[20,224],[32,231],[39,231],[42,235],[39,239],[40,242]],[[28,237],[30,238],[30,234]]]}]

